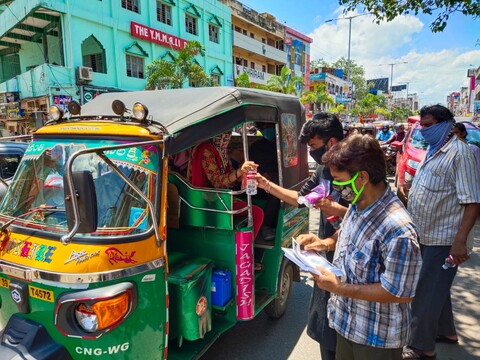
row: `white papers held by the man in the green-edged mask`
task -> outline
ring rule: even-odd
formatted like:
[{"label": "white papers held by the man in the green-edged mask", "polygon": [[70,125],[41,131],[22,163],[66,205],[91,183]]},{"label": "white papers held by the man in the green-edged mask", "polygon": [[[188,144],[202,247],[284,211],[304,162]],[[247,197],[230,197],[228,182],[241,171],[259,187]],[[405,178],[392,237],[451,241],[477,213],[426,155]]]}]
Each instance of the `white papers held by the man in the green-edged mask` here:
[{"label": "white papers held by the man in the green-edged mask", "polygon": [[285,257],[296,264],[301,270],[321,275],[317,266],[333,272],[336,276],[342,276],[342,270],[334,266],[322,255],[312,250],[302,250],[295,238],[292,238],[292,248],[282,248]]}]

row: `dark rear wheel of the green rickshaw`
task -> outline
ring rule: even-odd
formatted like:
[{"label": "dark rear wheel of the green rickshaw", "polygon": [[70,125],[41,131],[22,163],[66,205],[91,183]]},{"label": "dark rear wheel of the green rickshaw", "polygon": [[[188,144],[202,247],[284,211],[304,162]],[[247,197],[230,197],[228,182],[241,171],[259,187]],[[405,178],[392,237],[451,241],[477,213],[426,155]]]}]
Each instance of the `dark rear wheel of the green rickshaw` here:
[{"label": "dark rear wheel of the green rickshaw", "polygon": [[279,319],[287,310],[293,286],[293,264],[284,259],[278,274],[277,297],[265,307],[267,315]]}]

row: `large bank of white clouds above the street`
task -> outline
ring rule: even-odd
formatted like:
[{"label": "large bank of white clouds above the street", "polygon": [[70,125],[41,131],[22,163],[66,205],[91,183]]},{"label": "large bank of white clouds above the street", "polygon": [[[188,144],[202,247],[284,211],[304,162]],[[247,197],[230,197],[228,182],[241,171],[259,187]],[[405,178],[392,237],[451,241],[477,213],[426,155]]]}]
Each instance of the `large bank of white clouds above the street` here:
[{"label": "large bank of white clouds above the street", "polygon": [[[410,15],[379,25],[371,15],[353,18],[350,58],[365,68],[366,79],[390,78],[389,64],[394,64],[394,85],[408,82],[409,92],[416,92],[421,104],[444,103],[448,93],[467,86],[467,69],[470,64],[480,65],[480,50],[461,53],[450,47],[420,52],[415,49],[415,38],[423,27],[418,18]],[[348,30],[349,20],[334,20],[316,28],[309,35],[314,40],[311,59],[334,62],[342,56],[347,58]]]}]

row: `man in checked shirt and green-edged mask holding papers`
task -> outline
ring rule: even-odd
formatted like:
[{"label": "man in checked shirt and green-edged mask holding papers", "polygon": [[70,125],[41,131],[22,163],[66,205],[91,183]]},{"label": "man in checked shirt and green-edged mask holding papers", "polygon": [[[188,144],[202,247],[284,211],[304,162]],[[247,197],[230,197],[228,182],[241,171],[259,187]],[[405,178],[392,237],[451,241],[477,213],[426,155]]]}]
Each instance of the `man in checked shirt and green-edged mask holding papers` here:
[{"label": "man in checked shirt and green-edged mask holding papers", "polygon": [[333,264],[343,276],[321,268],[314,275],[317,286],[332,293],[328,318],[337,332],[336,360],[400,360],[422,261],[415,226],[386,181],[377,140],[349,136],[322,160],[334,189],[352,205],[340,231],[301,245],[336,247]]}]

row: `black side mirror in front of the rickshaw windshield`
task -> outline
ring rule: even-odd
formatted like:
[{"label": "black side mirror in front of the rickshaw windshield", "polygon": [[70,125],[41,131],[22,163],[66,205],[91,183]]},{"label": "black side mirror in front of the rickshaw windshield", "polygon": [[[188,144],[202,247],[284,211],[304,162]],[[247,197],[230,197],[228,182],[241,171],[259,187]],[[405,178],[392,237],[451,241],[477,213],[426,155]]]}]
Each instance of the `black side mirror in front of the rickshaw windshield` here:
[{"label": "black side mirror in front of the rickshaw windshield", "polygon": [[[97,193],[95,191],[93,175],[90,171],[72,171],[72,179],[80,214],[80,224],[77,232],[92,233],[97,230],[98,224]],[[75,213],[73,211],[72,201],[68,200],[71,194],[65,177],[63,180],[63,188],[65,191],[67,224],[68,229],[71,231],[75,225]]]}]

